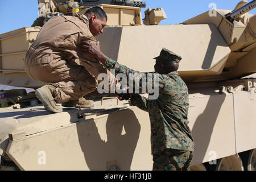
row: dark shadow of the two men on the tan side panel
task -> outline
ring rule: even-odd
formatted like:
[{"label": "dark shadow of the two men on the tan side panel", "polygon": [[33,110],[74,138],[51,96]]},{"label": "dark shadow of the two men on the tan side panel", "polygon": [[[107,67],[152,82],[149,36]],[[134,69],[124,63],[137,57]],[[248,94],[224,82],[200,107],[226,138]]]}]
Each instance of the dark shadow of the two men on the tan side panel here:
[{"label": "dark shadow of the two men on the tan side panel", "polygon": [[141,125],[130,109],[109,114],[106,122],[77,123],[81,150],[89,169],[130,170],[140,131]]}]

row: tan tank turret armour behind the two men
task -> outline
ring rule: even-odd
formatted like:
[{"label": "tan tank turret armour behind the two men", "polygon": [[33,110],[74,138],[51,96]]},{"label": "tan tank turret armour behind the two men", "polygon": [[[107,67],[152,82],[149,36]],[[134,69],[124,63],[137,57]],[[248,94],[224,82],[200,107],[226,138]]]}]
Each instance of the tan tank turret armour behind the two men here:
[{"label": "tan tank turret armour behind the two men", "polygon": [[[102,7],[109,9],[109,11],[118,11],[110,14],[121,17],[122,6],[102,5]],[[136,12],[140,10],[138,7],[125,8]],[[246,40],[244,38],[245,36],[249,38],[254,36],[254,33],[251,32],[254,31],[255,25],[254,23],[249,23],[249,20],[253,22],[255,16],[245,14],[242,19],[245,24],[241,21],[230,24],[223,17],[225,13],[229,12],[227,10],[217,10],[216,16],[213,17],[210,17],[209,13],[206,12],[185,21],[184,24],[168,26],[106,27],[104,35],[98,36],[97,40],[101,42],[102,51],[106,55],[142,72],[152,71],[154,61],[150,60],[159,54],[162,47],[167,47],[183,57],[179,73],[186,82],[237,78],[256,71],[255,61],[250,59],[250,57],[255,57],[255,39]],[[138,14],[138,12],[135,14]],[[125,18],[126,15],[123,14],[122,17]],[[120,18],[110,18],[109,21],[111,22],[112,20],[119,21]],[[127,21],[130,21],[129,18]],[[117,23],[116,25],[120,26],[122,24]],[[37,32],[32,32],[33,35],[28,33],[31,31],[28,29],[24,28],[23,30],[20,29],[19,31],[0,35],[3,38],[1,39],[1,70],[6,74],[8,73],[8,75],[3,75],[5,79],[1,79],[3,84],[21,86],[22,84],[16,81],[19,77],[18,74],[26,77],[26,74],[22,73],[24,70],[24,55],[30,45],[29,42],[32,42],[37,34]],[[36,31],[38,30],[36,29]],[[18,32],[20,31],[22,31],[23,35],[19,35]],[[158,36],[152,36],[155,32],[158,32]],[[11,39],[8,38],[7,42],[5,42],[6,36],[11,36]],[[32,37],[29,38],[29,36]],[[18,41],[20,38],[26,39],[26,41]],[[22,43],[22,50],[10,46],[14,41]],[[133,44],[134,42],[136,44]],[[130,46],[131,44],[133,44],[132,47]],[[184,51],[184,48],[186,48],[186,51]],[[8,51],[8,49],[10,50]],[[244,51],[240,51],[240,49]],[[145,54],[144,52],[148,52],[148,50],[151,51]],[[249,54],[247,56],[249,58],[245,57],[247,54]],[[19,58],[19,56],[21,57]],[[134,57],[139,57],[140,61],[135,60]],[[243,58],[246,61],[242,61],[241,59]],[[242,63],[242,69],[240,62]],[[224,68],[228,71],[223,71]],[[26,86],[33,88],[42,85],[40,82],[32,81],[29,77],[26,78],[26,83]]]}]

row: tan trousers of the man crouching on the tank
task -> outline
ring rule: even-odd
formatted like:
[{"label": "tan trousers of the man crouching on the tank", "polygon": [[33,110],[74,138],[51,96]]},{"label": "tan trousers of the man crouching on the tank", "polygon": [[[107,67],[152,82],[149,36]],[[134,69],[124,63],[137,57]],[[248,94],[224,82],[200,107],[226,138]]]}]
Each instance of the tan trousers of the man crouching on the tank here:
[{"label": "tan trousers of the man crouching on the tank", "polygon": [[[26,59],[36,58],[28,53]],[[28,76],[34,80],[56,86],[54,94],[57,103],[78,100],[97,89],[98,81],[82,65],[78,65],[74,61],[61,60],[59,56],[50,63],[33,65],[25,63],[24,68]],[[105,72],[108,73],[109,86],[117,84],[113,77],[110,81],[110,72],[108,70]]]}]

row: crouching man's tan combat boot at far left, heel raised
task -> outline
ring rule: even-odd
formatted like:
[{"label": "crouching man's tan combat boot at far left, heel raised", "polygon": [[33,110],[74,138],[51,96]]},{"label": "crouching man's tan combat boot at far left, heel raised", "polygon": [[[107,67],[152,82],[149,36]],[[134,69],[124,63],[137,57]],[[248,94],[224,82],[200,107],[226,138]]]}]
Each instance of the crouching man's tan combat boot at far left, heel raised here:
[{"label": "crouching man's tan combat boot at far left, heel raised", "polygon": [[52,113],[61,113],[62,107],[56,105],[56,102],[53,98],[53,93],[55,91],[55,86],[53,85],[44,85],[39,89],[35,90],[36,97],[38,97],[39,101],[41,101],[44,105],[44,108]]}]

